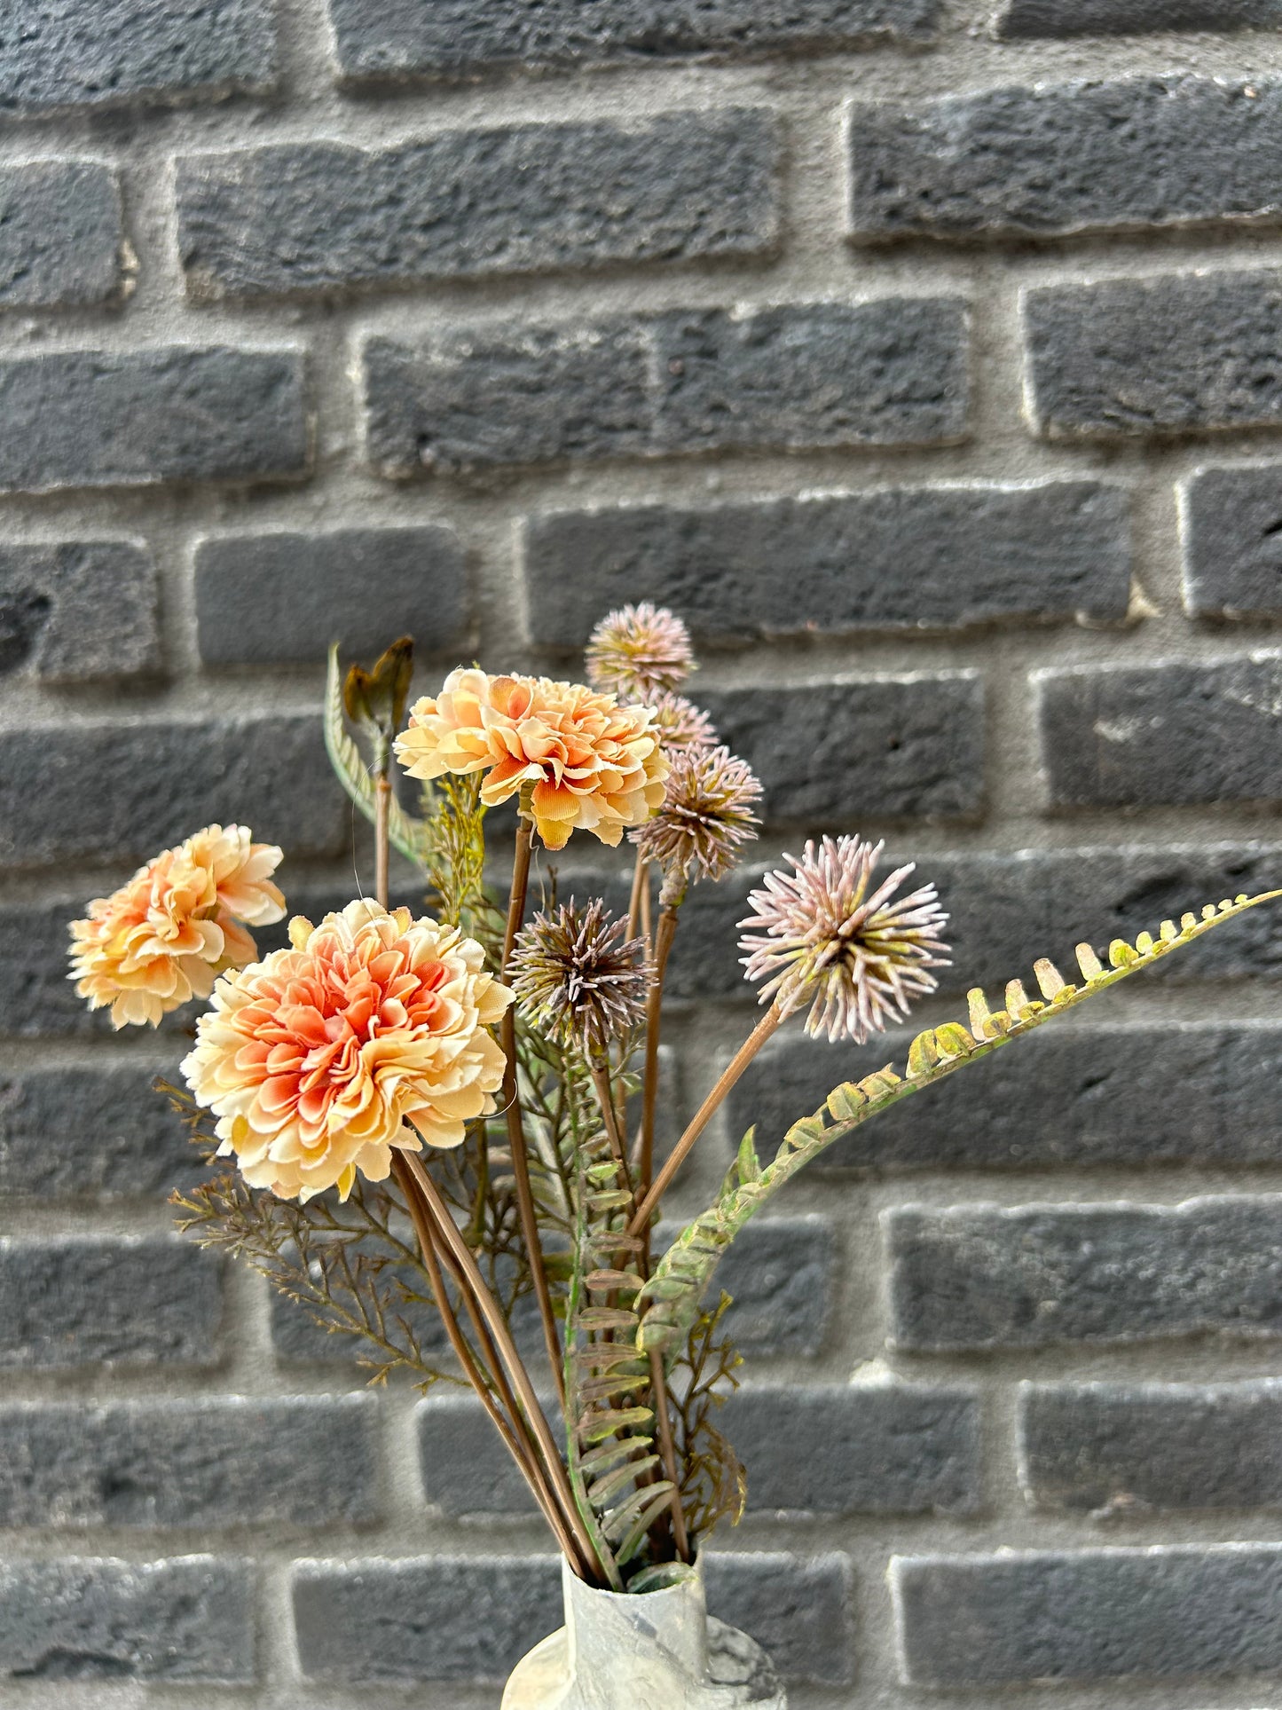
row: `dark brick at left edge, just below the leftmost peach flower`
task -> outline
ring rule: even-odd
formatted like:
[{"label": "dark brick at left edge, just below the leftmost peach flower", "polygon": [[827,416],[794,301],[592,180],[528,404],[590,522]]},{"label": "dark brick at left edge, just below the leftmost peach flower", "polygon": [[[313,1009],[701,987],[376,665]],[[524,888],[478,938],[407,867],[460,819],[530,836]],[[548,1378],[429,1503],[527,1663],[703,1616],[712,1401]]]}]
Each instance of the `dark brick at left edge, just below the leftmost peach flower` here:
[{"label": "dark brick at left edge, just below the leftmost peach flower", "polygon": [[207,1173],[202,1153],[156,1091],[157,1076],[178,1081],[178,1064],[120,1057],[0,1070],[0,1192],[133,1199],[193,1187]]}]

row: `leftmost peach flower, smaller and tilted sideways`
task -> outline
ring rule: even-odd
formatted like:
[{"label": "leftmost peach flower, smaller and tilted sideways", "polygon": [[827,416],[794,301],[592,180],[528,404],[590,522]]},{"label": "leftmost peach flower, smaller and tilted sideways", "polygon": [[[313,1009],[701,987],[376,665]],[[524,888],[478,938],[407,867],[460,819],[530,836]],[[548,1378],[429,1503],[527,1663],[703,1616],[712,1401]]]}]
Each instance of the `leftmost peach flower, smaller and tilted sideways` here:
[{"label": "leftmost peach flower, smaller and tilted sideways", "polygon": [[138,867],[128,884],[72,922],[72,973],[91,1009],[111,1005],[111,1024],[149,1021],[191,997],[209,997],[227,968],[258,949],[241,922],[265,927],[285,913],[270,882],[273,843],[244,826],[205,826]]}]

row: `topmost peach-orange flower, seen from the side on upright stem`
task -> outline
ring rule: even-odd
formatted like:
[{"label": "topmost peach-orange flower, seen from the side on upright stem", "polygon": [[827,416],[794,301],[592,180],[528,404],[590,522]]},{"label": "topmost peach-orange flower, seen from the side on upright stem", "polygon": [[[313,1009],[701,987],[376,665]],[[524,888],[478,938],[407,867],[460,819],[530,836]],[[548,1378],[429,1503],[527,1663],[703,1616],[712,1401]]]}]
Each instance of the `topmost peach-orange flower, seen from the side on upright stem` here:
[{"label": "topmost peach-orange flower, seen from the side on upright stem", "polygon": [[530,792],[547,848],[576,828],[619,843],[663,800],[668,761],[648,706],[619,706],[579,682],[451,670],[438,696],[410,708],[397,758],[410,778],[484,771],[487,807]]}]

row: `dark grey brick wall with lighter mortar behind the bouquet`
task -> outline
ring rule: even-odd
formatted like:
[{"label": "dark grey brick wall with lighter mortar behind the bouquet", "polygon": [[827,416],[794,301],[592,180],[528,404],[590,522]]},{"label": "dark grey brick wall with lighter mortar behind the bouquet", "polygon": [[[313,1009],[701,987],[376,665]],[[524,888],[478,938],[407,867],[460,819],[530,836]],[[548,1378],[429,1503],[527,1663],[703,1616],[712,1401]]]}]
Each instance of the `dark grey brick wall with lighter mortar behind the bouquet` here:
[{"label": "dark grey brick wall with lighter mortar behind the bouquet", "polygon": [[[65,980],[215,817],[347,899],[332,638],[427,687],[691,622],[767,824],[684,915],[663,1144],[807,834],[938,882],[930,1021],[1282,879],[1280,139],[1279,0],[0,5],[5,1710],[492,1710],[556,1619],[470,1397],[173,1235],[190,1017]],[[904,1043],[778,1040],[673,1226]],[[797,1710],[1279,1700],[1280,1064],[1248,917],[750,1226],[709,1602]]]}]

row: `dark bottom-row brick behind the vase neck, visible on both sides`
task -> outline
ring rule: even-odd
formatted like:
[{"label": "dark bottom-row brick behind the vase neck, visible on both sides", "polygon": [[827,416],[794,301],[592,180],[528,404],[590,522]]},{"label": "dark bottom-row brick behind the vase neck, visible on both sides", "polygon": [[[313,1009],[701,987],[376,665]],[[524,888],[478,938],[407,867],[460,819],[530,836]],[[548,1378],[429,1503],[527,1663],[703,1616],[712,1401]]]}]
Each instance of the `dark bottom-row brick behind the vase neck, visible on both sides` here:
[{"label": "dark bottom-row brick behind the vase neck, visible on both sides", "polygon": [[[709,1556],[711,1614],[752,1633],[793,1679],[850,1679],[850,1568],[843,1556]],[[554,1556],[432,1556],[294,1563],[304,1679],[503,1681],[561,1626]]]}]

